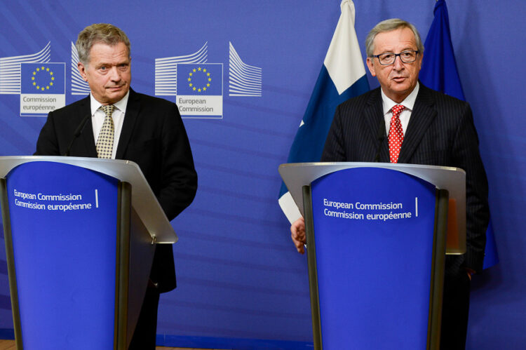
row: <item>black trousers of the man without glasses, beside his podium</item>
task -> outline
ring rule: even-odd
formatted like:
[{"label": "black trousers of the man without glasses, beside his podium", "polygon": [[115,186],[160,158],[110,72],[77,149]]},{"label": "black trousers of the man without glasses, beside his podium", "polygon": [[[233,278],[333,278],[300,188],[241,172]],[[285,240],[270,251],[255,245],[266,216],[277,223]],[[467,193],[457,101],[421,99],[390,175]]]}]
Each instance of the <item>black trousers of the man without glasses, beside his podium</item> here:
[{"label": "black trousers of the man without glasses, beside his podium", "polygon": [[147,288],[129,350],[155,350],[159,289]]}]

